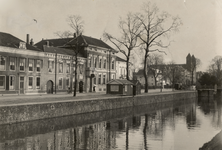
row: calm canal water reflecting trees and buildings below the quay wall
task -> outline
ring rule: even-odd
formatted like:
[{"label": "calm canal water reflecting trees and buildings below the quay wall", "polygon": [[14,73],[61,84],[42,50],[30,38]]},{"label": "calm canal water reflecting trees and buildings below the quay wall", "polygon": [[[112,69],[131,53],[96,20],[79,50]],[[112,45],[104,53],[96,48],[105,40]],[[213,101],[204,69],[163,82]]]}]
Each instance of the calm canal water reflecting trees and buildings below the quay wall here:
[{"label": "calm canal water reflecting trees and buildings below the quay wall", "polygon": [[1,150],[198,150],[221,131],[216,100],[182,99],[0,126]]}]

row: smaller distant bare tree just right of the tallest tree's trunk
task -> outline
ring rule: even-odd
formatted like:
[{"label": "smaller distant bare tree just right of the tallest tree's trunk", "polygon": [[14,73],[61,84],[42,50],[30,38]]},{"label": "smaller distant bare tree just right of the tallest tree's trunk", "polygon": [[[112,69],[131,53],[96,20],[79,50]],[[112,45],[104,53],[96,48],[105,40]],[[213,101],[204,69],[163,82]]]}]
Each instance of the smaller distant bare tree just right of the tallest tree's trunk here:
[{"label": "smaller distant bare tree just right of the tallest tree's trunk", "polygon": [[157,78],[162,74],[163,71],[163,56],[157,53],[149,55],[148,60],[148,74],[151,73],[155,80],[155,88],[157,84]]}]

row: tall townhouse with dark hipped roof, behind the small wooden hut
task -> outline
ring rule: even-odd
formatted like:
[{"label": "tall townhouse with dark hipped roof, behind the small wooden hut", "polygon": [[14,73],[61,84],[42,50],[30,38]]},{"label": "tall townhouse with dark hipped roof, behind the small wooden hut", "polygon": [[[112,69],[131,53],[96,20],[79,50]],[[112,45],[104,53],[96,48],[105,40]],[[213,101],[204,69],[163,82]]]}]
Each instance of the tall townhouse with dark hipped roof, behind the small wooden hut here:
[{"label": "tall townhouse with dark hipped roof, behind the small wooden hut", "polygon": [[116,78],[116,55],[114,49],[100,39],[79,35],[72,38],[47,39],[35,45],[43,49],[45,43],[49,47],[73,49],[80,47],[79,55],[86,59],[84,86],[86,92],[106,91],[106,83]]}]

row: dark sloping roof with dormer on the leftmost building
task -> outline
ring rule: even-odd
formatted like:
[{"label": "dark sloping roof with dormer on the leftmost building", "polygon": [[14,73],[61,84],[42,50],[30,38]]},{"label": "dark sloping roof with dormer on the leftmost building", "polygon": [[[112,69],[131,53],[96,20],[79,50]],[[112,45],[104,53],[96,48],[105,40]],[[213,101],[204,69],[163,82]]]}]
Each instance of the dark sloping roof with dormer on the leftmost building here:
[{"label": "dark sloping roof with dormer on the leftmost building", "polygon": [[[11,34],[0,32],[0,46],[19,48],[20,42],[24,42],[24,41],[20,40],[19,38],[15,37]],[[26,43],[26,42],[24,42],[24,43]],[[42,51],[41,49],[38,49],[28,43],[26,43],[26,49],[27,50],[34,50],[34,51]]]}]

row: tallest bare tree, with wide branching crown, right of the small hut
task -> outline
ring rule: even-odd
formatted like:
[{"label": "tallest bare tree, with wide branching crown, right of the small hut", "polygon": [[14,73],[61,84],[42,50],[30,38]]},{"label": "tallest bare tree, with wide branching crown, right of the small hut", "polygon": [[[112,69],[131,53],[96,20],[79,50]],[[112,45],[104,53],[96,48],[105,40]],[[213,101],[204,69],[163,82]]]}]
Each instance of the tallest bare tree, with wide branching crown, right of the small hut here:
[{"label": "tallest bare tree, with wide branching crown, right of the small hut", "polygon": [[159,14],[156,5],[145,3],[143,5],[143,13],[136,14],[136,20],[141,24],[142,33],[138,36],[141,41],[141,49],[144,50],[144,78],[145,78],[145,93],[148,92],[148,77],[147,77],[147,58],[150,52],[164,52],[162,48],[168,48],[161,41],[163,37],[169,37],[172,31],[178,31],[182,24],[179,17],[171,17],[167,12]]}]

